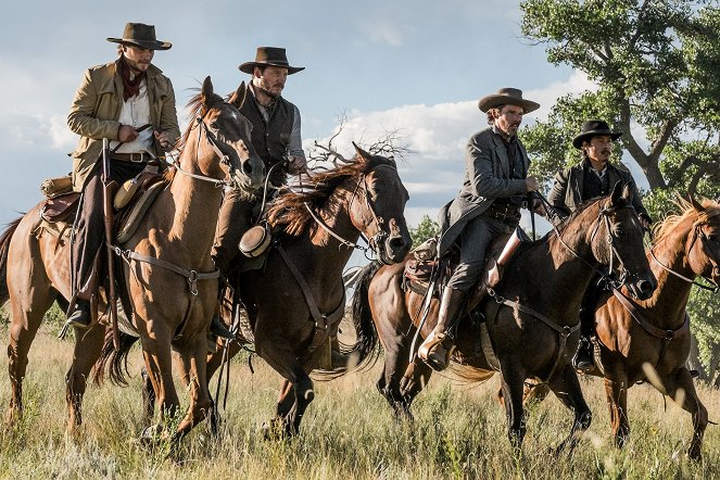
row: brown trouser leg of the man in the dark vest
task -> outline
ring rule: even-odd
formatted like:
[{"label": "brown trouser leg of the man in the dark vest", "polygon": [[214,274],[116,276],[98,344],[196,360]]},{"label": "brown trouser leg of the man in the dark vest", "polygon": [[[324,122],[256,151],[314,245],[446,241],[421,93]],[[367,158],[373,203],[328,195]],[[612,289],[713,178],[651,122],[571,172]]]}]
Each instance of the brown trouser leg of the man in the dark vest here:
[{"label": "brown trouser leg of the man in the dark vest", "polygon": [[240,239],[253,226],[255,206],[257,206],[256,200],[244,199],[236,190],[230,190],[223,199],[212,256],[215,267],[226,278],[240,254]]}]

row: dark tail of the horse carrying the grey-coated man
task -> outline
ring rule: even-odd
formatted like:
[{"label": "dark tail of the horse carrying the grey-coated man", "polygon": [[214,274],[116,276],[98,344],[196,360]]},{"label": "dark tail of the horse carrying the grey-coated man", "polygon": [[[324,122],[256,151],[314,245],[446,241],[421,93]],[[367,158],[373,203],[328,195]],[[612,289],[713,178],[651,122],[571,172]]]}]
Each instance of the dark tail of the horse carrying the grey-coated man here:
[{"label": "dark tail of the horse carrying the grey-coated man", "polygon": [[363,268],[355,283],[351,317],[355,325],[357,340],[351,353],[356,355],[358,369],[371,367],[380,357],[378,331],[372,321],[369,302],[370,281],[380,267],[382,267],[382,263],[370,262]]}]

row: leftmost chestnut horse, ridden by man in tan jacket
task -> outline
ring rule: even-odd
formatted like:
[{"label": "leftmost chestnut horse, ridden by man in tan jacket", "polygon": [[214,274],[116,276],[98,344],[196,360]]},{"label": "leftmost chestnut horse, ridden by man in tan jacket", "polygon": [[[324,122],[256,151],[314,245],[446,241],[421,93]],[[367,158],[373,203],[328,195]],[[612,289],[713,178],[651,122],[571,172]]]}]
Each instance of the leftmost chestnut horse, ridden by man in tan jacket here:
[{"label": "leftmost chestnut horse, ridden by man in tan jacket", "polygon": [[[189,103],[191,122],[182,136],[176,168],[149,207],[136,232],[116,245],[125,280],[124,302],[142,343],[146,367],[165,419],[179,410],[173,383],[170,345],[180,359],[180,372],[190,380],[190,404],[173,438],[179,439],[201,421],[211,406],[205,381],[206,331],[217,302],[217,273],[210,252],[219,214],[223,186],[260,188],[264,164],[250,141],[251,124],[237,105],[213,91],[205,78]],[[70,242],[40,219],[40,205],[15,222],[2,237],[0,269],[7,273],[12,321],[8,346],[11,401],[9,420],[23,412],[22,384],[27,353],[42,316],[59,300],[71,298]],[[60,231],[63,231],[61,228]],[[105,310],[101,305],[100,312]],[[100,357],[105,326],[75,329],[73,366],[66,377],[68,430],[81,422],[86,378]],[[108,341],[112,344],[112,336]],[[112,374],[119,372],[122,368]]]}]

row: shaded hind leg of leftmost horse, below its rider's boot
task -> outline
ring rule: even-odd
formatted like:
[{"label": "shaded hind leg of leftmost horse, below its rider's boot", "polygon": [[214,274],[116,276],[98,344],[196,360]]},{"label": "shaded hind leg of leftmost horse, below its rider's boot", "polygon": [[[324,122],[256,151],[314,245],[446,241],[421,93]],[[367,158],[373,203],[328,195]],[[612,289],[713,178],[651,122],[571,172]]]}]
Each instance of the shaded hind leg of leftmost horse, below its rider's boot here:
[{"label": "shaded hind leg of leftmost horse, below its rider's boot", "polygon": [[92,366],[102,353],[106,328],[94,323],[89,330],[75,329],[73,364],[65,376],[65,400],[67,401],[67,432],[74,434],[83,424],[83,395]]}]

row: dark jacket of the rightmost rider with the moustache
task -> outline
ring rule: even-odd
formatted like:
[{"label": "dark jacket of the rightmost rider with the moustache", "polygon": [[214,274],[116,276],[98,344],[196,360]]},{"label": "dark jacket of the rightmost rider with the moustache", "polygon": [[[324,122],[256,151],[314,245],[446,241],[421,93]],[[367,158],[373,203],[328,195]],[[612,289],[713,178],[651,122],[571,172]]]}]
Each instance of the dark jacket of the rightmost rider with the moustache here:
[{"label": "dark jacket of the rightmost rider with the moustache", "polygon": [[[589,168],[586,161],[583,161],[558,172],[557,175],[555,175],[553,190],[547,197],[548,203],[555,209],[555,213],[548,213],[551,222],[557,224],[570,215],[570,213],[574,212],[583,202],[590,200],[590,198],[585,198],[586,195],[583,194],[583,179],[585,170]],[[611,163],[608,163],[607,173],[605,175],[608,176],[610,190],[618,181],[630,184],[632,188],[632,206],[635,207],[639,215],[645,216],[652,222],[650,216],[643,206],[642,198],[630,172],[620,169]]]}]

